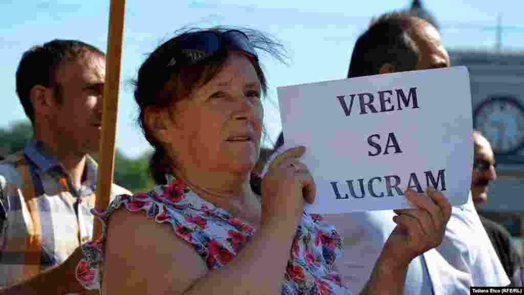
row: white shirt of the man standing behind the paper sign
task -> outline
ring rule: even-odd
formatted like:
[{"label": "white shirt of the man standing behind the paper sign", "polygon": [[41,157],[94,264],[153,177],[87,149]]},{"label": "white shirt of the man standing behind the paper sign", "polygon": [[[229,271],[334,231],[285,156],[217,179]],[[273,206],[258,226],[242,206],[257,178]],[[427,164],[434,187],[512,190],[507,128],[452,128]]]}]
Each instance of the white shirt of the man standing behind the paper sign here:
[{"label": "white shirt of the man standing behind the paper sign", "polygon": [[[325,222],[335,225],[344,238],[344,256],[337,268],[353,293],[358,294],[369,279],[396,226],[394,215],[391,210],[325,215]],[[411,261],[405,294],[470,294],[471,286],[509,283],[473,202],[468,202],[453,207],[442,244]]]}]

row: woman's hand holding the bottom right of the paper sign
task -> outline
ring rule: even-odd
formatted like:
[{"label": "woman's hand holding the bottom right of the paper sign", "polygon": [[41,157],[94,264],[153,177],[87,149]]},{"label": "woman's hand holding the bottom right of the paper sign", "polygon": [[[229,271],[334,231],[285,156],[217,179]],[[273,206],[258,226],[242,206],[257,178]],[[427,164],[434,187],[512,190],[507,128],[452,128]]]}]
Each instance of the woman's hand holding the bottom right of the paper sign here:
[{"label": "woman's hand holding the bottom right of the paper sign", "polygon": [[413,258],[442,243],[451,205],[439,191],[428,188],[426,193],[406,190],[407,199],[418,208],[394,210],[397,226],[384,245],[386,261],[407,267]]}]

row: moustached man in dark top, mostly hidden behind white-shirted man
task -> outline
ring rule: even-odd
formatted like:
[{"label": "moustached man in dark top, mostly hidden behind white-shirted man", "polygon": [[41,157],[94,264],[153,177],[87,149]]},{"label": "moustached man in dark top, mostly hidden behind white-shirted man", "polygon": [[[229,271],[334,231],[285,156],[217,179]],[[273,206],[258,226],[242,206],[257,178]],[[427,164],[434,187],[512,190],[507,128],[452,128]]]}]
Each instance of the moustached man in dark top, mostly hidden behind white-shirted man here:
[{"label": "moustached man in dark top, mostly hidden behind white-shirted man", "polygon": [[[473,132],[475,143],[475,160],[471,179],[471,194],[476,207],[488,201],[489,183],[497,179],[495,171],[495,155],[489,141],[478,131]],[[478,215],[486,229],[488,237],[495,248],[504,270],[509,278],[513,278],[522,257],[515,245],[511,242],[511,234],[500,224]],[[512,281],[514,284],[515,281]]]}]

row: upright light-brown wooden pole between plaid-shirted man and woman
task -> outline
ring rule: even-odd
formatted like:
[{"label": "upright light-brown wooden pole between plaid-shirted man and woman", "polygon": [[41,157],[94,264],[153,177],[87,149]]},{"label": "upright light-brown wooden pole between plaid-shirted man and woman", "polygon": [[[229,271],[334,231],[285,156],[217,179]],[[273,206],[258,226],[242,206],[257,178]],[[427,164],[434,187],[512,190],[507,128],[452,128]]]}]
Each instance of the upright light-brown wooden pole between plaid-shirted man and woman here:
[{"label": "upright light-brown wooden pole between plaid-shirted man and woman", "polygon": [[[124,10],[125,0],[111,0],[107,34],[102,134],[100,137],[98,183],[96,185],[95,208],[97,210],[105,210],[107,208],[113,183],[118,88],[120,85],[120,64],[124,35]],[[93,240],[96,240],[101,235],[102,224],[95,218]]]}]

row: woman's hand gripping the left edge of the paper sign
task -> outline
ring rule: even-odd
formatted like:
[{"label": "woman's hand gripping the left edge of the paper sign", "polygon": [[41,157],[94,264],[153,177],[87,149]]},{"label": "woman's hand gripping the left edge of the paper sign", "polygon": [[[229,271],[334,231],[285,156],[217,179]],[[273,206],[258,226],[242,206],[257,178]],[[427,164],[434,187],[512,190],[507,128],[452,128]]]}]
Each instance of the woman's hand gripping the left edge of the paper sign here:
[{"label": "woman's hand gripping the left edge of the paper sign", "polygon": [[270,163],[261,183],[263,224],[285,221],[296,228],[302,220],[304,202],[313,203],[315,182],[308,167],[299,162],[304,152],[305,147],[294,147]]}]

